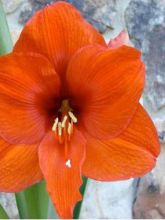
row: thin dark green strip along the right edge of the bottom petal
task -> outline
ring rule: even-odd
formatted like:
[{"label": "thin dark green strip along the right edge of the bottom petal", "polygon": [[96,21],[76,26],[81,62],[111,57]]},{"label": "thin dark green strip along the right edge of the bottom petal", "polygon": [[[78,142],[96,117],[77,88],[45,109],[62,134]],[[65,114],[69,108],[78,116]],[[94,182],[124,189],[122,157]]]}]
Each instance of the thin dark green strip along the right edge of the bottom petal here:
[{"label": "thin dark green strip along the right edge of the bottom petal", "polygon": [[[82,186],[80,188],[80,192],[81,192],[83,197],[85,195],[87,183],[88,183],[88,178],[87,177],[83,177],[83,184],[82,184]],[[81,212],[82,203],[83,203],[83,200],[78,202],[77,205],[75,206],[74,213],[73,213],[73,218],[74,219],[78,219],[79,218],[80,212]]]}]

